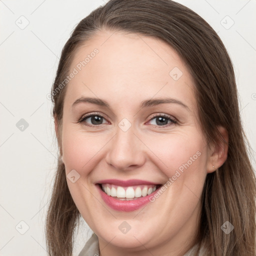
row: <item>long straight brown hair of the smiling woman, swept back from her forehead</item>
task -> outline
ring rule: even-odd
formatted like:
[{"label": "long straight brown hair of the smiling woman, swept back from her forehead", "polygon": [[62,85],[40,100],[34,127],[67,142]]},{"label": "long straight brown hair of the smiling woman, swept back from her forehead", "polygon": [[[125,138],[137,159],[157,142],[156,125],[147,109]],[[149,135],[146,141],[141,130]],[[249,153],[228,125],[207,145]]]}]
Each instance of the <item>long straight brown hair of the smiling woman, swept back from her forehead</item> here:
[{"label": "long straight brown hair of the smiling woman, swept back from her forehead", "polygon": [[[58,134],[68,83],[58,93],[54,91],[68,75],[78,47],[100,30],[161,39],[183,60],[193,77],[198,121],[207,143],[217,146],[223,141],[218,126],[228,132],[225,162],[206,175],[196,240],[200,246],[204,244],[206,256],[255,256],[255,174],[241,124],[232,62],[217,33],[194,11],[171,0],[109,0],[94,9],[76,25],[61,52],[51,88]],[[61,154],[60,135],[57,141]],[[59,155],[45,223],[49,255],[71,255],[80,217]],[[234,226],[229,234],[221,230],[227,220]]]}]

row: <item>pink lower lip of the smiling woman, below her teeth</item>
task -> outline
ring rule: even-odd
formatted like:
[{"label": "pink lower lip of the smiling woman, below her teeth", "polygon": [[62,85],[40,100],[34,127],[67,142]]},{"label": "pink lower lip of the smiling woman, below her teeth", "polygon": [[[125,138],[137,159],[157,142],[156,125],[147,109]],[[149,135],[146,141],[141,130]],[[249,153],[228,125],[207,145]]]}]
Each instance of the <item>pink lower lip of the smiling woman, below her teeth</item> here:
[{"label": "pink lower lip of the smiling woman, below her teeth", "polygon": [[152,192],[149,195],[141,196],[137,199],[126,201],[126,200],[118,200],[110,195],[107,195],[105,192],[102,191],[101,186],[99,184],[97,184],[96,186],[104,202],[112,209],[118,210],[118,211],[133,211],[133,210],[139,209],[143,205],[150,202],[149,198],[153,196],[155,193],[157,193],[159,189],[159,188],[156,189],[154,192]]}]

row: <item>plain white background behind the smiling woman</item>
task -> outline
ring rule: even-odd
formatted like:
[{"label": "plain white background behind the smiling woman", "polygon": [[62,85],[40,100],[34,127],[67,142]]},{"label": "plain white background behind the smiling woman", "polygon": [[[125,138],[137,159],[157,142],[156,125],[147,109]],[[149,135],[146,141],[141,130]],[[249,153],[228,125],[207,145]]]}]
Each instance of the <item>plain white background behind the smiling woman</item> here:
[{"label": "plain white background behind the smiling woman", "polygon": [[[201,15],[228,49],[235,69],[243,126],[255,157],[256,0],[178,2]],[[46,95],[60,51],[74,26],[102,4],[102,0],[0,0],[2,256],[46,255],[44,219],[57,162],[51,102]],[[21,15],[25,17],[21,17],[22,21]],[[234,21],[229,29],[222,25],[231,24],[226,15]],[[29,24],[20,29],[15,22],[24,25],[25,19]],[[29,124],[23,131],[16,127],[21,118]],[[26,225],[28,230],[20,234]],[[86,230],[84,224],[74,255],[88,238]]]}]

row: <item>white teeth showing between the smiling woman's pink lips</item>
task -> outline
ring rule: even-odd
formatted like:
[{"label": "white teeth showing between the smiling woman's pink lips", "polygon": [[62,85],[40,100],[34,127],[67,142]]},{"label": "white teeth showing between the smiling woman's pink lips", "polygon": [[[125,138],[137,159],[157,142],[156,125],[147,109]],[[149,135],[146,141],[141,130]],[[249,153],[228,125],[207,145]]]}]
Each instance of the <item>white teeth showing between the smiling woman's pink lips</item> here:
[{"label": "white teeth showing between the smiling woman's pink lips", "polygon": [[137,199],[141,196],[151,194],[156,190],[156,185],[139,185],[139,186],[116,186],[112,184],[101,184],[102,190],[112,197],[120,200]]}]

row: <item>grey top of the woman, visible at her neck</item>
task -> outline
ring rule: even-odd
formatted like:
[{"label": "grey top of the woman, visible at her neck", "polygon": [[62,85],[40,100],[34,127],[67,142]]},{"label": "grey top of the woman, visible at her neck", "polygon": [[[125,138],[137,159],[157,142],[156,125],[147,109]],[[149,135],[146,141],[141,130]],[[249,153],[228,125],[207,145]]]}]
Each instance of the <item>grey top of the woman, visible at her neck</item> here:
[{"label": "grey top of the woman, visible at her neck", "polygon": [[[194,245],[184,256],[193,256],[197,247],[198,244]],[[200,249],[199,255],[204,255],[202,249]],[[99,256],[98,238],[95,233],[85,243],[78,256]]]}]

